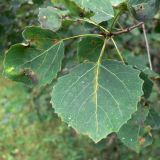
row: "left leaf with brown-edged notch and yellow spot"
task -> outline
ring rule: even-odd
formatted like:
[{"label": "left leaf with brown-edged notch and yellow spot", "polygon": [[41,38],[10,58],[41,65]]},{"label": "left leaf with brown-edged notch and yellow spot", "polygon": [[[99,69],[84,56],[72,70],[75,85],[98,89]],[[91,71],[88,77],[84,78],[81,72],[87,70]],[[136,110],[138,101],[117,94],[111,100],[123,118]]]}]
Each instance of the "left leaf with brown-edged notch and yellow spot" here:
[{"label": "left leaf with brown-edged notch and yellow spot", "polygon": [[28,45],[12,46],[5,57],[4,75],[28,85],[46,85],[56,78],[64,57],[64,45],[55,33],[39,27],[23,32]]}]

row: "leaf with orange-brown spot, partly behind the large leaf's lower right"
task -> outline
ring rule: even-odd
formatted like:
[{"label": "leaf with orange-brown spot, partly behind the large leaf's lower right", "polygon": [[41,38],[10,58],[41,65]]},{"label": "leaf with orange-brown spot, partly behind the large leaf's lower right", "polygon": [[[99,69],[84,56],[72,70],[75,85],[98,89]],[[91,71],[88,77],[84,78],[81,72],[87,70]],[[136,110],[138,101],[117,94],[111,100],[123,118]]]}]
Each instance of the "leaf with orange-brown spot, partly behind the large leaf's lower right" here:
[{"label": "leaf with orange-brown spot, partly behind the large leaf's lower right", "polygon": [[127,147],[136,152],[140,152],[142,148],[152,144],[152,137],[149,132],[146,132],[145,120],[147,115],[148,109],[144,109],[140,105],[138,111],[122,126],[117,134]]}]

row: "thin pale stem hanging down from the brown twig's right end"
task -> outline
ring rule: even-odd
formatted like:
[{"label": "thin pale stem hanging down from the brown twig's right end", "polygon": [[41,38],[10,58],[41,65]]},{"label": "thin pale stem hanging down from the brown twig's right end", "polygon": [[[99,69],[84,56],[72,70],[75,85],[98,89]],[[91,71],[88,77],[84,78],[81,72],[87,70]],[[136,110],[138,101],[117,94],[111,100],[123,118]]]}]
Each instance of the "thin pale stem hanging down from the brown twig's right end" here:
[{"label": "thin pale stem hanging down from the brown twig's right end", "polygon": [[151,54],[150,54],[150,48],[149,48],[149,43],[148,43],[147,34],[146,34],[146,28],[145,28],[145,24],[144,23],[142,24],[142,29],[143,29],[144,39],[145,39],[145,42],[146,42],[146,49],[147,49],[149,67],[150,67],[151,70],[153,70],[152,61],[151,61]]}]

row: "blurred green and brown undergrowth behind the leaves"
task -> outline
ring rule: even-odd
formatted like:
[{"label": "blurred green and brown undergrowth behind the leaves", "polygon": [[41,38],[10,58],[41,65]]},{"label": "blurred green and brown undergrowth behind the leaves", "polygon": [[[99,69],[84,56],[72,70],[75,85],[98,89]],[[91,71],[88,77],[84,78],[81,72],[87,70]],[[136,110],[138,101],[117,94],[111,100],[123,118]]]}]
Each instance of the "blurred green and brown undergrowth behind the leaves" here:
[{"label": "blurred green and brown undergrowth behind the leaves", "polygon": [[[39,25],[38,8],[47,5],[49,0],[0,0],[1,72],[5,51],[23,41],[21,32],[26,26]],[[147,27],[154,69],[160,73],[159,19]],[[138,31],[118,41],[125,52],[138,54],[144,49]],[[54,114],[50,91],[50,86],[30,89],[0,77],[0,160],[160,160],[160,132],[155,132],[153,145],[140,154],[125,147],[115,134],[94,144]],[[150,99],[160,110],[157,91]]]}]

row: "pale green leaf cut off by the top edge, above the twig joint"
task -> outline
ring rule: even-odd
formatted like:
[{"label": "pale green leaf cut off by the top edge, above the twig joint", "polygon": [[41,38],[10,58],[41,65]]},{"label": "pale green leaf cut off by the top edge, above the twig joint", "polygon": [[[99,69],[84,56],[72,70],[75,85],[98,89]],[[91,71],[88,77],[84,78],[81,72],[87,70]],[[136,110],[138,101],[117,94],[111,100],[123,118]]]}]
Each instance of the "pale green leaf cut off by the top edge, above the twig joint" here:
[{"label": "pale green leaf cut off by the top edge, above the twig joint", "polygon": [[112,4],[108,0],[72,0],[85,10],[94,13],[91,19],[97,23],[108,21],[114,17]]}]

